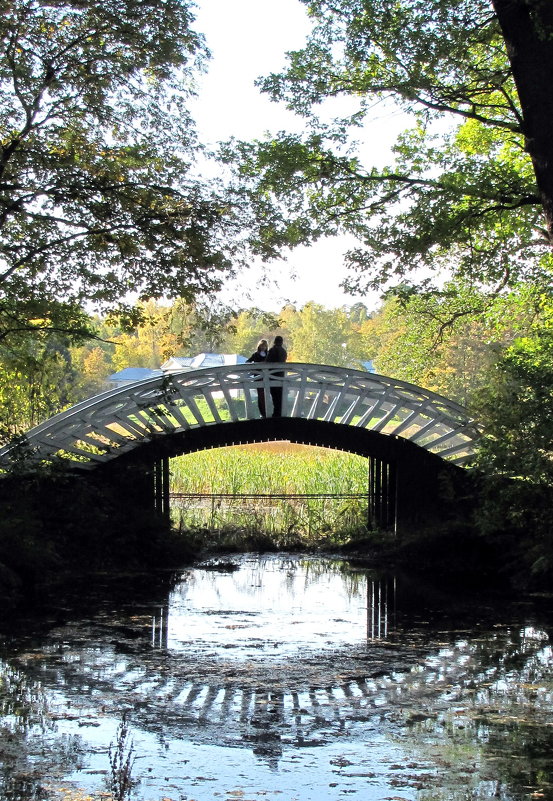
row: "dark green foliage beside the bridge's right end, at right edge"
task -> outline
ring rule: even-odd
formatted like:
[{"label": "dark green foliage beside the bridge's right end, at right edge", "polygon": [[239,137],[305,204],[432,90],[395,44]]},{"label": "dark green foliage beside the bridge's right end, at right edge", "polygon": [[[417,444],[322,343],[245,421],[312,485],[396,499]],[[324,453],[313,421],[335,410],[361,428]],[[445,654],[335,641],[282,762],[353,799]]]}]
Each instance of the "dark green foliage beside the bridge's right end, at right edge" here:
[{"label": "dark green foliage beside the bridge's right end, at right edge", "polygon": [[521,568],[553,574],[553,327],[517,339],[499,360],[479,405],[485,436],[478,467],[490,477],[482,525],[515,531]]}]

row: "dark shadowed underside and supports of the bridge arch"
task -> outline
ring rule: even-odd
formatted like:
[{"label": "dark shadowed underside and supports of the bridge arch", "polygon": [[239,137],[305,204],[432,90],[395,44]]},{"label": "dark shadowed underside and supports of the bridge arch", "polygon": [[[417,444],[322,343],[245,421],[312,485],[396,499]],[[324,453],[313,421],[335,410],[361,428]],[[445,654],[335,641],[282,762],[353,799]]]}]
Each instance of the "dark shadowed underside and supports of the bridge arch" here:
[{"label": "dark shadowed underside and supports of the bridge arch", "polygon": [[[404,439],[368,429],[302,418],[247,420],[166,435],[96,468],[111,484],[123,480],[141,503],[168,514],[169,459],[211,448],[290,441],[367,458],[368,523],[409,530],[456,514],[467,490],[466,471]],[[138,480],[136,480],[138,479]]]}]

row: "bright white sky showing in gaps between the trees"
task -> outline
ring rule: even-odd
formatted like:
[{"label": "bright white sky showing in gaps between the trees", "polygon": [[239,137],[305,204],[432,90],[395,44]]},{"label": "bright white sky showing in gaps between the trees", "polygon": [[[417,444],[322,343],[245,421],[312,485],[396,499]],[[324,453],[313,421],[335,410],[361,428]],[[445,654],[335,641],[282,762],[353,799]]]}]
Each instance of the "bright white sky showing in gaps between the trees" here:
[{"label": "bright white sky showing in gaps between the trees", "polygon": [[[196,28],[205,34],[213,56],[194,108],[202,139],[214,144],[230,136],[252,139],[267,131],[300,131],[302,121],[261,95],[254,81],[281,71],[286,51],[303,45],[310,28],[305,7],[299,0],[197,0],[197,5]],[[377,107],[369,128],[375,162],[386,158],[389,145],[405,127],[400,114]],[[286,261],[254,268],[242,286],[227,289],[225,299],[271,311],[286,301],[301,306],[310,300],[327,308],[358,301],[374,308],[378,295],[353,297],[339,287],[347,247],[346,240],[333,239],[297,248]]]}]

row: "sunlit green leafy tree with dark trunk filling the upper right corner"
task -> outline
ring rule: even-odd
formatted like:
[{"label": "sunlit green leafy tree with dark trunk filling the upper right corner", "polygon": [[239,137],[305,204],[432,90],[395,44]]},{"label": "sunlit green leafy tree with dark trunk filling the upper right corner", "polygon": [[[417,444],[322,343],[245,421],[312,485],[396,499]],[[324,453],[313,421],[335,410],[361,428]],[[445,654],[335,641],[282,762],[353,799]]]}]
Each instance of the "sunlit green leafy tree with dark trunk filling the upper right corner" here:
[{"label": "sunlit green leafy tree with dark trunk filling the upper right corner", "polygon": [[[314,21],[306,47],[260,85],[310,130],[222,150],[237,164],[237,191],[258,216],[259,240],[353,234],[355,291],[444,265],[494,292],[521,279],[550,281],[548,0],[304,2]],[[517,15],[524,33],[514,30]],[[318,110],[338,97],[350,99],[351,112],[323,123]],[[361,127],[367,112],[390,98],[415,126],[381,168],[350,134],[370,141],[370,124]]]}]

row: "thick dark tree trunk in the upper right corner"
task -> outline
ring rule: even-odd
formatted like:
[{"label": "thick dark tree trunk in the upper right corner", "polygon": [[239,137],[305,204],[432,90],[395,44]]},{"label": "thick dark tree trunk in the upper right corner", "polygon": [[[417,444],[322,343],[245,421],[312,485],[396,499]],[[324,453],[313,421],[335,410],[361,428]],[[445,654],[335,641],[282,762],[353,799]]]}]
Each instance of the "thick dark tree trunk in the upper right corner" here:
[{"label": "thick dark tree trunk in the upper right corner", "polygon": [[513,70],[523,132],[553,247],[553,0],[492,0]]}]

